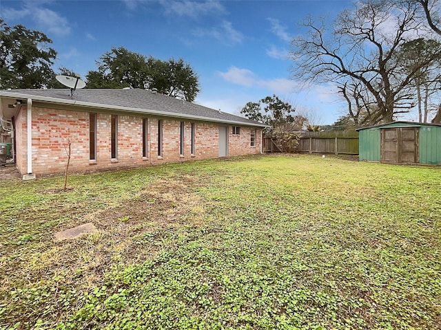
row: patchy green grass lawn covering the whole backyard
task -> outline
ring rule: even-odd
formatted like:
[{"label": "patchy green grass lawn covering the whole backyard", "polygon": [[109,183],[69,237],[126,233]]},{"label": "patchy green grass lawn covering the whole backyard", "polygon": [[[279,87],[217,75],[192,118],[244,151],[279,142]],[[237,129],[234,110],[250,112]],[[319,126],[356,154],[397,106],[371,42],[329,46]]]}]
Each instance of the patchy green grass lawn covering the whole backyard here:
[{"label": "patchy green grass lawn covering the whole backyard", "polygon": [[441,329],[439,166],[258,155],[62,186],[1,181],[0,329]]}]

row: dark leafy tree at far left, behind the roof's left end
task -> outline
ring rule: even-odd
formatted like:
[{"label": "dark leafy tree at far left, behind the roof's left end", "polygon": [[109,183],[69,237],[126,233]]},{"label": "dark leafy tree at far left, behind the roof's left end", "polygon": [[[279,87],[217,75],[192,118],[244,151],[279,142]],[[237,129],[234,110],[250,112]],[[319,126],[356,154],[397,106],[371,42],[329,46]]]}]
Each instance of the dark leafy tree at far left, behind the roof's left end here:
[{"label": "dark leafy tree at far left, behind the roof's left end", "polygon": [[51,66],[57,57],[51,43],[42,32],[11,28],[0,18],[0,88],[45,87],[54,77]]}]

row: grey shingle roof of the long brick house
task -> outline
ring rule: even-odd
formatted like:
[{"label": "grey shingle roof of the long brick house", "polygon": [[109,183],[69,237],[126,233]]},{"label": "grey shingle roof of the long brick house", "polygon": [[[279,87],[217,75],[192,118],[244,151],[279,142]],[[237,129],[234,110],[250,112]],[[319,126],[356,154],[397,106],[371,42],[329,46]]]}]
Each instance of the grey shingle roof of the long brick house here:
[{"label": "grey shingle roof of the long brick house", "polygon": [[14,89],[0,91],[0,96],[16,99],[31,98],[33,102],[48,102],[121,113],[267,127],[261,122],[145,89],[78,89],[74,91],[73,96],[70,96],[70,89]]}]

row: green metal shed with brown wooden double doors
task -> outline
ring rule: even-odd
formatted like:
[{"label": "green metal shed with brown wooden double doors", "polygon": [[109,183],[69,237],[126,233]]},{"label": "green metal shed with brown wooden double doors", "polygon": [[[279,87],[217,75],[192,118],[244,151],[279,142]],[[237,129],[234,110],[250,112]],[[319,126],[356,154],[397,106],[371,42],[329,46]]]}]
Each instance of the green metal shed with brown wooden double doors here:
[{"label": "green metal shed with brown wooden double doors", "polygon": [[360,160],[441,165],[441,124],[389,122],[357,131]]}]

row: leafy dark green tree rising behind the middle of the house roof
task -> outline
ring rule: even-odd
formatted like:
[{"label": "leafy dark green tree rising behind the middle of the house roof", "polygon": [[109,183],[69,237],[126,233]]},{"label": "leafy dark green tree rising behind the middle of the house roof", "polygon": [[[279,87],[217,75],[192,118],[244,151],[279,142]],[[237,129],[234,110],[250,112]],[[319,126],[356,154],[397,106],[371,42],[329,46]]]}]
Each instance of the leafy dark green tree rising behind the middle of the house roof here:
[{"label": "leafy dark green tree rising behind the middle of the house roof", "polygon": [[182,59],[161,61],[113,47],[96,64],[98,69],[86,75],[88,88],[156,88],[189,102],[199,92],[198,76]]}]

